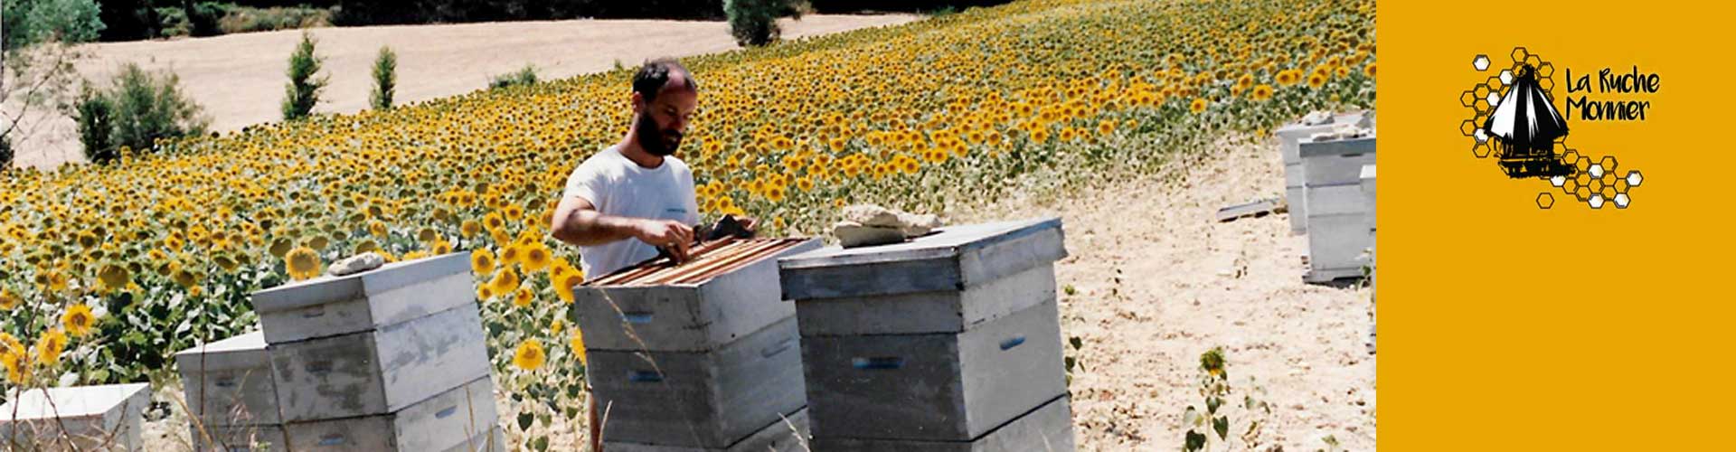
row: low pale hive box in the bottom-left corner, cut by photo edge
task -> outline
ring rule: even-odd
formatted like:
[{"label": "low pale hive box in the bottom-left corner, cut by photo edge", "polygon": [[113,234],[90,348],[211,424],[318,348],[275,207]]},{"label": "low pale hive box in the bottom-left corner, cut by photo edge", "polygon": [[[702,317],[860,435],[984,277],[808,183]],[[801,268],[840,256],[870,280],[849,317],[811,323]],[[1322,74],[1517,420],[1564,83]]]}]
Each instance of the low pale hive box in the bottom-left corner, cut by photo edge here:
[{"label": "low pale hive box in the bottom-left corner, cut by photo edge", "polygon": [[[149,382],[7,391],[0,438],[66,445],[73,450],[141,450]],[[16,436],[14,436],[16,435]]]}]

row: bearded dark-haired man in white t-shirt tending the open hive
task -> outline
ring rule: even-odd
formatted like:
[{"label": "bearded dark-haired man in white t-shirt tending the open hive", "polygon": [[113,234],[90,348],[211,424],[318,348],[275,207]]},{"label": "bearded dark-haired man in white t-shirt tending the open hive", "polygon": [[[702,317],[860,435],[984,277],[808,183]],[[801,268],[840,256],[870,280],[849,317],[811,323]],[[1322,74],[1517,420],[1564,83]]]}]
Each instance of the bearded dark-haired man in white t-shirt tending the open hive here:
[{"label": "bearded dark-haired man in white t-shirt tending the open hive", "polygon": [[578,245],[587,278],[658,256],[687,257],[700,209],[693,170],[675,150],[700,104],[698,82],[674,59],[649,61],[634,75],[632,127],[566,179],[554,210],[554,238]]}]

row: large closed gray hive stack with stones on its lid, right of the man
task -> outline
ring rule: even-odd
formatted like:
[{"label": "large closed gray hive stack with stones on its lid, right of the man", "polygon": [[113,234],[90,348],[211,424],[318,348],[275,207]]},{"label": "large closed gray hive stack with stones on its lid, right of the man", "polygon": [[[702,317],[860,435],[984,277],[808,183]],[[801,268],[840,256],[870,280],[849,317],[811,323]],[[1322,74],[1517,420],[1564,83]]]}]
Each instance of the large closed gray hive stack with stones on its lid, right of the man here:
[{"label": "large closed gray hive stack with stones on its lid, right of the man", "polygon": [[779,261],[814,450],[1071,450],[1059,219]]}]

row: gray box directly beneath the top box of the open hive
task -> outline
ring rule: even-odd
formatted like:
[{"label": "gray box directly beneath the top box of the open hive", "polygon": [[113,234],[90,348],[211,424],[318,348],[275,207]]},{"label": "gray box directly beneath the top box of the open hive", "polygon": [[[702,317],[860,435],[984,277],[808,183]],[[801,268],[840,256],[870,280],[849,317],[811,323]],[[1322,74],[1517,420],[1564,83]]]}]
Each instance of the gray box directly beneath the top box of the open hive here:
[{"label": "gray box directly beneath the top box of the open hive", "polygon": [[602,440],[727,449],[806,405],[795,318],[710,353],[585,353]]}]

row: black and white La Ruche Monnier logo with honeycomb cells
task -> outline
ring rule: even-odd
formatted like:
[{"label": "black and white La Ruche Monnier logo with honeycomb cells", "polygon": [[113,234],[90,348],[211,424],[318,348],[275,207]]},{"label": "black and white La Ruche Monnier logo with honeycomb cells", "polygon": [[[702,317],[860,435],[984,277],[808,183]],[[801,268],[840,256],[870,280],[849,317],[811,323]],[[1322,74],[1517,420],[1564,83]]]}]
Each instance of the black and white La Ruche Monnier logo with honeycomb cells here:
[{"label": "black and white La Ruche Monnier logo with honeycomb cells", "polygon": [[[1628,209],[1632,191],[1644,183],[1635,169],[1620,167],[1614,155],[1594,156],[1580,151],[1578,141],[1568,144],[1573,113],[1578,120],[1644,120],[1649,101],[1592,101],[1588,96],[1566,97],[1557,110],[1555,99],[1555,64],[1542,56],[1514,47],[1512,64],[1496,66],[1489,56],[1472,57],[1470,66],[1479,76],[1474,87],[1462,92],[1458,101],[1469,110],[1469,118],[1460,122],[1458,130],[1470,137],[1470,153],[1476,158],[1495,160],[1495,165],[1509,179],[1535,179],[1543,186],[1536,195],[1538,209],[1552,209],[1555,196],[1576,200],[1590,209]],[[1496,71],[1498,70],[1498,71]],[[1590,76],[1571,80],[1568,71],[1568,92],[1590,90]],[[1601,73],[1604,92],[1656,92],[1658,75],[1611,75]]]}]

